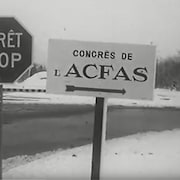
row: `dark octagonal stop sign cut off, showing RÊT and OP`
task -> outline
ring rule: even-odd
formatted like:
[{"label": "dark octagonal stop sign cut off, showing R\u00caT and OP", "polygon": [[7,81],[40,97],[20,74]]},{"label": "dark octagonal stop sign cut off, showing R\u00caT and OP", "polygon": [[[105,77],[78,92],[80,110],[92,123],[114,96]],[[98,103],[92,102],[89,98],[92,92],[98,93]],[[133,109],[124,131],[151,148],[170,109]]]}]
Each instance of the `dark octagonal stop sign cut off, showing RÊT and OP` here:
[{"label": "dark octagonal stop sign cut off, showing R\u00caT and OP", "polygon": [[0,18],[0,83],[14,82],[30,65],[32,37],[13,17]]}]

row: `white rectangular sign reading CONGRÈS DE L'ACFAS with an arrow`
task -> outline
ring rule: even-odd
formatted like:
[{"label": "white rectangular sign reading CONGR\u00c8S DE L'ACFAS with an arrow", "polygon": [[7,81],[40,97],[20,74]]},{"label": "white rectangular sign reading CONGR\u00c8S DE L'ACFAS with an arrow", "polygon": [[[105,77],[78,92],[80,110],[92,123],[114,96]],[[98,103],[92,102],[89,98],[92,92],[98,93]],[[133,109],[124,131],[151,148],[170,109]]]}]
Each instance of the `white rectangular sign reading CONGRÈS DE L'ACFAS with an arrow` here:
[{"label": "white rectangular sign reading CONGR\u00c8S DE L'ACFAS with an arrow", "polygon": [[152,99],[155,46],[49,40],[47,92]]}]

